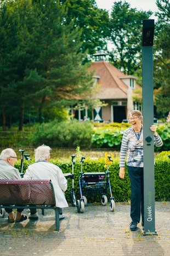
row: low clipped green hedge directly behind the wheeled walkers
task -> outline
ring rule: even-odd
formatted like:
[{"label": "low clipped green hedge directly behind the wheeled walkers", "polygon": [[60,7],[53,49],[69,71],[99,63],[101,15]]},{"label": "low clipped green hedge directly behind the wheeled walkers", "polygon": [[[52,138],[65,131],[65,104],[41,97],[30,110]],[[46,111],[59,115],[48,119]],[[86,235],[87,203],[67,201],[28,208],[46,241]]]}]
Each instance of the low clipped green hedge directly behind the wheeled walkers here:
[{"label": "low clipped green hedge directly behind the wheeled walkers", "polygon": [[[161,155],[162,154],[162,155]],[[160,156],[155,159],[155,200],[156,201],[170,201],[170,160],[168,154],[170,151],[162,152]],[[58,165],[64,173],[72,172],[71,161],[60,162],[59,160],[50,160],[55,165]],[[83,172],[104,172],[104,159],[90,160],[86,159],[83,164]],[[19,165],[15,165],[16,168],[20,168]],[[24,170],[27,165],[24,166]],[[78,176],[81,171],[80,161],[75,162],[74,173],[75,173],[75,192],[77,199],[80,198]],[[126,175],[124,179],[119,178],[119,159],[115,159],[113,164],[109,167],[110,171],[110,182],[112,188],[112,194],[116,201],[128,201],[131,198],[131,188],[129,182],[129,176],[126,167]],[[69,187],[72,186],[72,180],[68,179]],[[110,195],[109,195],[110,197]],[[108,199],[109,199],[108,197]],[[70,201],[69,194],[66,193],[66,198]],[[90,195],[87,197],[88,202],[98,201],[99,197],[96,195]]]}]

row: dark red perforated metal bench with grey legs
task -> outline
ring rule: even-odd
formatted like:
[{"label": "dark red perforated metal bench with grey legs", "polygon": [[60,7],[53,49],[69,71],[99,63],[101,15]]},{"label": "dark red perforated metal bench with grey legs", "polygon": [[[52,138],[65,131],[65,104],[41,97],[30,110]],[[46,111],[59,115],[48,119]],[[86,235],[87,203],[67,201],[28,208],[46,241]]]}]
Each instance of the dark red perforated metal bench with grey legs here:
[{"label": "dark red perforated metal bench with grey legs", "polygon": [[0,179],[0,209],[24,208],[55,210],[55,226],[59,231],[59,208],[55,206],[52,181],[46,179]]}]

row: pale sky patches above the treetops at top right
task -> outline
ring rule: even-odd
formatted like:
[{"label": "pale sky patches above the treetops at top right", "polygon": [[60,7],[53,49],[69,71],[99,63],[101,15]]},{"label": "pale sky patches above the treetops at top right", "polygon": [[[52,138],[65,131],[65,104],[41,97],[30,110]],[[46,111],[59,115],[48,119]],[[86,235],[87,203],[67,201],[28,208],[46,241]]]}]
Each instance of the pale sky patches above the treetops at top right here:
[{"label": "pale sky patches above the treetops at top right", "polygon": [[[98,8],[111,10],[114,2],[119,0],[95,0]],[[131,5],[132,8],[137,8],[137,10],[151,10],[152,12],[157,11],[156,0],[126,0],[127,3]],[[154,15],[151,16],[154,19]]]}]

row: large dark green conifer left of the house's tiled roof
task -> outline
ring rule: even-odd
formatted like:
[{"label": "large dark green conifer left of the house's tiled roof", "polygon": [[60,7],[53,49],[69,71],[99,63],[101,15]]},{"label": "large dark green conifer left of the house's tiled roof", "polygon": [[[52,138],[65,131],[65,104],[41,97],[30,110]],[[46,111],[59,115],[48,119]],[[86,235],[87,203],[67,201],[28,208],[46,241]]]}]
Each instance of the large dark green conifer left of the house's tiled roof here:
[{"label": "large dark green conifer left of the house's tiled roof", "polygon": [[41,119],[44,106],[51,107],[61,99],[81,94],[92,83],[87,66],[81,64],[84,57],[80,52],[81,31],[78,27],[74,28],[73,21],[67,24],[65,5],[45,0],[33,6],[39,21],[33,35],[38,42],[36,68],[45,79],[43,90],[38,92],[41,95]]}]

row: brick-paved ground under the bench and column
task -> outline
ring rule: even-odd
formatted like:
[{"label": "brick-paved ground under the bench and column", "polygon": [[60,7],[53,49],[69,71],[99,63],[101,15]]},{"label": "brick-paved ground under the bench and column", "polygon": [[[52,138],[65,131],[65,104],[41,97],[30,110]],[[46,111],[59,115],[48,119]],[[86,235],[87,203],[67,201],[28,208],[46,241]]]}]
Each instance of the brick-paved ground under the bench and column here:
[{"label": "brick-paved ground under the bench and column", "polygon": [[[60,231],[55,231],[54,211],[39,211],[39,220],[9,224],[0,218],[0,255],[16,256],[169,256],[170,202],[157,202],[158,236],[143,236],[141,225],[129,231],[130,205],[116,203],[115,212],[89,204],[83,214],[70,206]],[[25,210],[27,214],[27,210]]]}]

